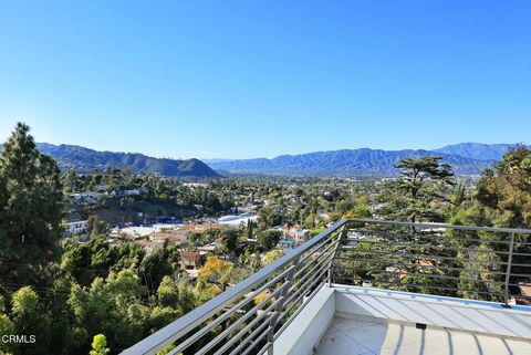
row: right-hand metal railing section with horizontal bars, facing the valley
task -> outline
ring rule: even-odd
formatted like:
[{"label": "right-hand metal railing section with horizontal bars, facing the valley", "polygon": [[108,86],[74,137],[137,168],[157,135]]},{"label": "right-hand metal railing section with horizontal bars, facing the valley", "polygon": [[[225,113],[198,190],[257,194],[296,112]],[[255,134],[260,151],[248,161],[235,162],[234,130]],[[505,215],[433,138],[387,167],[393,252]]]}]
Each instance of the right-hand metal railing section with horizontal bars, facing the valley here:
[{"label": "right-hand metal railing section with horizontal bars, facing the valley", "polygon": [[503,303],[531,301],[531,230],[350,220],[334,283]]}]

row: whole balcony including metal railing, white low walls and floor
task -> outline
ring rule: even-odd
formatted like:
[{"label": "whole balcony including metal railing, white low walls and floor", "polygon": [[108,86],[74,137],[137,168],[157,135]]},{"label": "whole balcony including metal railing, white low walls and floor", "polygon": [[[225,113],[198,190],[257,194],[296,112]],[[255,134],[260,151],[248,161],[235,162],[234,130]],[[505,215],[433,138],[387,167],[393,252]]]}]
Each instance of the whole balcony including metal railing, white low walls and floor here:
[{"label": "whole balcony including metal railing, white low walls and floor", "polygon": [[344,220],[123,354],[531,355],[530,236]]}]

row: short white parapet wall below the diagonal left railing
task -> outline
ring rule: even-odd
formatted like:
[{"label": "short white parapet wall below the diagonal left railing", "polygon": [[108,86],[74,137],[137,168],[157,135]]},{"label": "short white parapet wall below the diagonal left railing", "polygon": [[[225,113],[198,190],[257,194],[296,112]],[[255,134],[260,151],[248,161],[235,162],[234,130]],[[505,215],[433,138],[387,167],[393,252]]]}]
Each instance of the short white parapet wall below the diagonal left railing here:
[{"label": "short white parapet wall below the diagonal left railing", "polygon": [[310,355],[335,314],[334,289],[323,286],[274,342],[274,355]]}]

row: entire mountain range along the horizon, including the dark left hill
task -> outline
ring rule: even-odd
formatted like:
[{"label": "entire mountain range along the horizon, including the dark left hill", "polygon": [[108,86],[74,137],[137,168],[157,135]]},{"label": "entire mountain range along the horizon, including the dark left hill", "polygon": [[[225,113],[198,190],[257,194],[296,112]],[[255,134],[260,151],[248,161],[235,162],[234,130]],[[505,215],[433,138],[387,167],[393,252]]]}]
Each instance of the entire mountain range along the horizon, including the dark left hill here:
[{"label": "entire mountain range along the horizon, including the dark left hill", "polygon": [[[281,155],[272,159],[170,159],[154,158],[139,153],[97,152],[75,145],[38,143],[41,153],[58,160],[65,171],[81,173],[106,167],[128,169],[133,173],[156,174],[167,177],[218,178],[230,175],[275,176],[393,176],[400,159],[441,156],[457,175],[477,175],[501,159],[516,144],[460,143],[439,149],[342,149],[300,155]],[[528,146],[530,147],[530,146]],[[1,149],[1,145],[0,145]]]}]

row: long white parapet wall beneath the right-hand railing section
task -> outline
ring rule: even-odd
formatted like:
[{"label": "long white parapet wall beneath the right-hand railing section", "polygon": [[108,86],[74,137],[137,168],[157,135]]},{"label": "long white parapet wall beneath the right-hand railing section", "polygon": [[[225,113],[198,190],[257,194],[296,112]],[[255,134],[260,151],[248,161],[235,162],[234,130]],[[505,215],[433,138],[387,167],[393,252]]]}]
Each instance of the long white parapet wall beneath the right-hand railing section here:
[{"label": "long white parapet wall beneath the right-hand railing section", "polygon": [[531,307],[335,284],[340,315],[531,338]]}]

